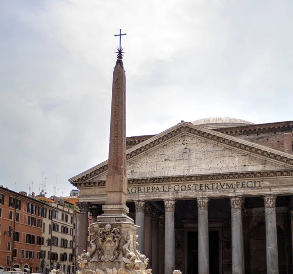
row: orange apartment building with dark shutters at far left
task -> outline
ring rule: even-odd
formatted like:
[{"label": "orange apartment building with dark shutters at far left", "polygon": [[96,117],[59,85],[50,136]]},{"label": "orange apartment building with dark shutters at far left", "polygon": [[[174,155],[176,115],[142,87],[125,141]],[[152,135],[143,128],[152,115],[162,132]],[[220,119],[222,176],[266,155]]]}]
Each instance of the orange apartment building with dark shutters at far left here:
[{"label": "orange apartment building with dark shutters at far left", "polygon": [[0,266],[4,270],[40,272],[42,222],[47,213],[46,204],[34,195],[0,187]]}]

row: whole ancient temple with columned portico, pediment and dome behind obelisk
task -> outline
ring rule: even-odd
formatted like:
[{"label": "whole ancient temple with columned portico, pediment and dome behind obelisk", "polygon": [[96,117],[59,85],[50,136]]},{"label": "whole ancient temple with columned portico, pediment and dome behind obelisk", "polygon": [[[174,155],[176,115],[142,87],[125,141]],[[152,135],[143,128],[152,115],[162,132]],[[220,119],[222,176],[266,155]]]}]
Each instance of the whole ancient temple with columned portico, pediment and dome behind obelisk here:
[{"label": "whole ancient temple with columned portico, pediment and dome behind obelisk", "polygon": [[[292,128],[217,117],[127,138],[127,206],[153,274],[164,264],[184,274],[293,273]],[[84,249],[106,174],[107,161],[69,179]]]}]

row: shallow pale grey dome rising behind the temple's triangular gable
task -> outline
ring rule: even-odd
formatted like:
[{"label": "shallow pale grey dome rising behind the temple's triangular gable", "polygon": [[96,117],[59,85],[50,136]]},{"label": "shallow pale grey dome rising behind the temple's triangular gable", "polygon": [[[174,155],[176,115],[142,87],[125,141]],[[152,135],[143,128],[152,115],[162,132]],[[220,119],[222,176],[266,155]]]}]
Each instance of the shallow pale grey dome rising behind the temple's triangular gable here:
[{"label": "shallow pale grey dome rising behind the temple's triangular gable", "polygon": [[209,129],[232,127],[232,126],[254,125],[251,122],[237,119],[237,118],[230,118],[230,117],[209,117],[209,118],[195,120],[191,123],[195,126],[202,126]]}]

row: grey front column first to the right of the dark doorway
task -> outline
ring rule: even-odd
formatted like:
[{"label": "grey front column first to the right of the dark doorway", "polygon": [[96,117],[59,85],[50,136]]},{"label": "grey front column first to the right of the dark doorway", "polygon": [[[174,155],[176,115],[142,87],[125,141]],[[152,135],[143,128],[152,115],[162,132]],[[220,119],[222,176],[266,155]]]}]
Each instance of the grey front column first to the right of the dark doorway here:
[{"label": "grey front column first to the right of the dark doorway", "polygon": [[244,245],[242,228],[243,197],[231,197],[232,274],[244,274]]}]

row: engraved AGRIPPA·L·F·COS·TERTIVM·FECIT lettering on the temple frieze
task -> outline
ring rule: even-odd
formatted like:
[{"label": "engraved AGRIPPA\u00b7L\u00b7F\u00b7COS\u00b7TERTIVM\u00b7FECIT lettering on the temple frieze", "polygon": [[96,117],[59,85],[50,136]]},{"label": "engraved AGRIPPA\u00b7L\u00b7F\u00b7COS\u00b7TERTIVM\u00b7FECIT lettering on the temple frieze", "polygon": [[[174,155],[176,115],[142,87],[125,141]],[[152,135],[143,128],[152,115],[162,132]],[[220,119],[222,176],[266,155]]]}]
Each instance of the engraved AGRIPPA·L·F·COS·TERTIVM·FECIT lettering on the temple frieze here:
[{"label": "engraved AGRIPPA\u00b7L\u00b7F\u00b7COS\u00b7TERTIVM\u00b7FECIT lettering on the temple frieze", "polygon": [[224,183],[203,184],[170,184],[156,186],[128,187],[128,194],[151,193],[151,192],[178,192],[178,191],[204,191],[204,190],[230,190],[261,188],[263,181],[237,181]]}]

